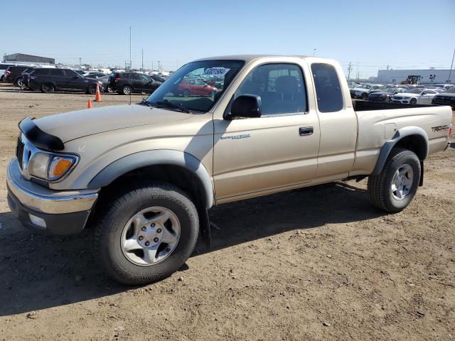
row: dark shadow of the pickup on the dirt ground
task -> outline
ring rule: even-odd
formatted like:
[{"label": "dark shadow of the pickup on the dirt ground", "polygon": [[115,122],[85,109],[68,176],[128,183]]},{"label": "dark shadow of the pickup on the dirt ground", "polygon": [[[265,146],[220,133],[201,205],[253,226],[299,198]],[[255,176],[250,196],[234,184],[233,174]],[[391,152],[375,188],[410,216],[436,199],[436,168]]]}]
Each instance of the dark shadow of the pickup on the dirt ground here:
[{"label": "dark shadow of the pickup on the dirt ground", "polygon": [[[233,202],[210,211],[216,251],[295,229],[368,220],[384,215],[370,206],[365,190],[347,183],[277,193]],[[90,252],[90,231],[80,237],[32,234],[11,212],[0,213],[0,316],[27,313],[130,288],[102,273]],[[188,269],[184,266],[181,271]]]}]

